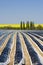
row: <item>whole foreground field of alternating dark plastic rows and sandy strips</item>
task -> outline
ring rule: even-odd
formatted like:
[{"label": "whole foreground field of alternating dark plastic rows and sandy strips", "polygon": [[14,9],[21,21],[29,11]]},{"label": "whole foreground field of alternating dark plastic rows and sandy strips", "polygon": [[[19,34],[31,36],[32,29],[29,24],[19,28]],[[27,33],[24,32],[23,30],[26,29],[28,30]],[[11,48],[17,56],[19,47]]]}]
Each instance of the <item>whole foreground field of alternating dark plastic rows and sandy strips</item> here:
[{"label": "whole foreground field of alternating dark plastic rows and sandy strips", "polygon": [[0,65],[43,65],[43,30],[0,30]]}]

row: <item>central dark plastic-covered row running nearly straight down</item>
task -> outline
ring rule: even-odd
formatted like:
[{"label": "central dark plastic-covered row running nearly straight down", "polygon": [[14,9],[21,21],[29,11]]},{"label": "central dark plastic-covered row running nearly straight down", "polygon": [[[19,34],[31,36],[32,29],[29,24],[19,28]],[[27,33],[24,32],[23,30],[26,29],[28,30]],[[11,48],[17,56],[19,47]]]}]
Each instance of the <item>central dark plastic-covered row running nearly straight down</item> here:
[{"label": "central dark plastic-covered row running nearly straight down", "polygon": [[17,41],[16,41],[16,54],[15,54],[15,63],[20,63],[20,61],[22,60],[22,49],[21,49],[21,43],[20,43],[20,39],[17,33]]}]

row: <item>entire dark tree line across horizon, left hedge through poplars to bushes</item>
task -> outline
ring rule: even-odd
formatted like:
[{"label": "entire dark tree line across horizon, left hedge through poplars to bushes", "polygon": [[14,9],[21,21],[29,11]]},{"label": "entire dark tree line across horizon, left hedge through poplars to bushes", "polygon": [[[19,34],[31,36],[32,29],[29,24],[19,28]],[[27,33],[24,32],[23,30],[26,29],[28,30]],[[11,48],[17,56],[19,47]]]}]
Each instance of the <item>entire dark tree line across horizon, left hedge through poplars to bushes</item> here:
[{"label": "entire dark tree line across horizon, left hedge through poplars to bushes", "polygon": [[13,29],[13,30],[43,30],[43,27],[39,24],[38,26],[35,26],[35,23],[33,21],[27,21],[26,23],[24,21],[20,22],[20,27],[12,27],[12,26],[4,26],[0,27],[0,29]]}]

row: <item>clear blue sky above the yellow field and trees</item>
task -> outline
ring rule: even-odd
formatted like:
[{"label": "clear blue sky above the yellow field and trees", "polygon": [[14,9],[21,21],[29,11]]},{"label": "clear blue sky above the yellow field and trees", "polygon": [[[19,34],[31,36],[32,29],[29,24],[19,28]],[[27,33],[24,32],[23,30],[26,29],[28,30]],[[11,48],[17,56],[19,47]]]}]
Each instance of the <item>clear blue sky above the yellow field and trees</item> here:
[{"label": "clear blue sky above the yellow field and trees", "polygon": [[0,0],[0,24],[43,23],[43,0]]}]

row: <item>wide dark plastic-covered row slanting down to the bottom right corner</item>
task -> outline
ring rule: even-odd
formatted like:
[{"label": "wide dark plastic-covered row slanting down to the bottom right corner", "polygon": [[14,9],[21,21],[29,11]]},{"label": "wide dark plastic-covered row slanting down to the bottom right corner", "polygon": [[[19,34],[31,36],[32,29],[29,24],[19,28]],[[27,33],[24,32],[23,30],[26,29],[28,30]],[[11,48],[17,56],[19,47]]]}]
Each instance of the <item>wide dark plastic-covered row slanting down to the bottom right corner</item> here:
[{"label": "wide dark plastic-covered row slanting down to the bottom right corner", "polygon": [[23,35],[23,38],[24,38],[24,41],[25,41],[25,44],[27,46],[27,49],[28,49],[28,52],[29,52],[29,55],[31,57],[31,60],[32,60],[32,63],[35,64],[37,63],[37,65],[42,65],[40,63],[40,60],[39,60],[39,57],[37,55],[37,53],[34,51],[34,49],[32,48],[31,44],[28,42],[27,38],[25,37],[25,35],[23,33],[21,33]]}]

